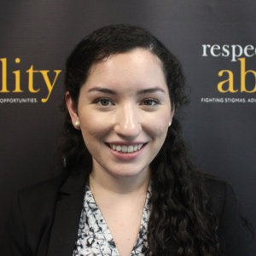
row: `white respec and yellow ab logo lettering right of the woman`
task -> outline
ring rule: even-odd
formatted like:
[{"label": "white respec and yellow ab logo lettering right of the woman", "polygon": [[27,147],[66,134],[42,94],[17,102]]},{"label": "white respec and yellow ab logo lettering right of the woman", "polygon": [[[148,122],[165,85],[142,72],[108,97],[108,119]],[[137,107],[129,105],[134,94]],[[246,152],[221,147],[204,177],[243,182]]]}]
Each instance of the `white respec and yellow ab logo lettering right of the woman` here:
[{"label": "white respec and yellow ab logo lettering right of the woman", "polygon": [[[256,98],[247,98],[247,96],[252,96],[256,92],[256,70],[247,67],[247,59],[255,57],[256,48],[251,44],[244,47],[240,44],[202,44],[201,47],[201,56],[204,58],[230,60],[227,64],[229,68],[218,71],[219,79],[216,89],[222,96],[225,96],[225,94],[236,96],[231,98],[217,97],[212,98],[212,100],[211,97],[201,98],[201,102],[256,102]],[[239,72],[237,72],[237,69]]]}]

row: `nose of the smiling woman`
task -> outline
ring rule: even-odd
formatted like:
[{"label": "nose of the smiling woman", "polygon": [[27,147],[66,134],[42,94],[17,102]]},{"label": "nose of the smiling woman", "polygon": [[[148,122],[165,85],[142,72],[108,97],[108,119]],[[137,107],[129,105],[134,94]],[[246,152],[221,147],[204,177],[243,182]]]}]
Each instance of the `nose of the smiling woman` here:
[{"label": "nose of the smiling woman", "polygon": [[139,110],[136,106],[126,104],[116,113],[114,131],[121,137],[136,138],[142,131]]}]

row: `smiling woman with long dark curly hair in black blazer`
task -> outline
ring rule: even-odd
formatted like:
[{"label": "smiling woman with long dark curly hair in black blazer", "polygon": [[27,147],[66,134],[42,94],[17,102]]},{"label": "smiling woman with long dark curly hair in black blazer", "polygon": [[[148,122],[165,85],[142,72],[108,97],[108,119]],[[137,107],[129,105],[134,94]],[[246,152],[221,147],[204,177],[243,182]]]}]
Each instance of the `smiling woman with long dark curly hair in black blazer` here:
[{"label": "smiling woman with long dark curly hair in black blazer", "polygon": [[183,73],[158,39],[92,32],[65,84],[63,172],[20,192],[7,255],[247,255],[230,186],[189,160]]}]

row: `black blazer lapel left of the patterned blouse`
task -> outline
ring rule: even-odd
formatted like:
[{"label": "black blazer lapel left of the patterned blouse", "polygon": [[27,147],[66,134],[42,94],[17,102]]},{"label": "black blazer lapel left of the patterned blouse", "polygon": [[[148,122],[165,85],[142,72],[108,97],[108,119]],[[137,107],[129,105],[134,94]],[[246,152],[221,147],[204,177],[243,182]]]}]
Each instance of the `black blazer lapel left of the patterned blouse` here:
[{"label": "black blazer lapel left of the patterned blouse", "polygon": [[55,207],[47,256],[73,255],[84,201],[84,186],[83,172],[76,172],[62,185],[60,198]]}]

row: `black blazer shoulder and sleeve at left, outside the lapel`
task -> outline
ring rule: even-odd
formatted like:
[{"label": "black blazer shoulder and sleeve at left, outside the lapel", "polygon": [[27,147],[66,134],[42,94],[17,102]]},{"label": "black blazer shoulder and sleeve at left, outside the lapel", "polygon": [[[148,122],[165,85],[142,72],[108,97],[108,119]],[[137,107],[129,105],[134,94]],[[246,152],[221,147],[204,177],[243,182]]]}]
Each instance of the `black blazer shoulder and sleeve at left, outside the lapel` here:
[{"label": "black blazer shoulder and sleeve at left, outside the lapel", "polygon": [[63,175],[60,175],[21,189],[15,195],[5,224],[1,246],[4,255],[31,255],[36,252],[38,241],[49,234],[62,180]]}]

